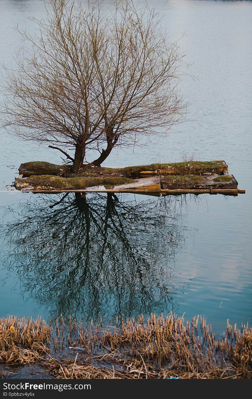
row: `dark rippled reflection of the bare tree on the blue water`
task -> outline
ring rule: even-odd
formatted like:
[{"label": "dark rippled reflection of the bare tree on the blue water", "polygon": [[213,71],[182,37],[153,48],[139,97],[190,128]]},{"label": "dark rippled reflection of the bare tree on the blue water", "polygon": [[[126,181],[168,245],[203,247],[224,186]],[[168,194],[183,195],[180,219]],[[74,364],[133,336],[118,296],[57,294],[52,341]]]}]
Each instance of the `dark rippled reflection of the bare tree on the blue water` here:
[{"label": "dark rippled reflection of the bare tree on the blue water", "polygon": [[[55,199],[57,198],[57,199]],[[133,194],[34,195],[7,226],[4,267],[51,319],[89,323],[178,308],[180,199]],[[185,200],[185,197],[184,197]],[[187,288],[188,289],[188,288]]]}]

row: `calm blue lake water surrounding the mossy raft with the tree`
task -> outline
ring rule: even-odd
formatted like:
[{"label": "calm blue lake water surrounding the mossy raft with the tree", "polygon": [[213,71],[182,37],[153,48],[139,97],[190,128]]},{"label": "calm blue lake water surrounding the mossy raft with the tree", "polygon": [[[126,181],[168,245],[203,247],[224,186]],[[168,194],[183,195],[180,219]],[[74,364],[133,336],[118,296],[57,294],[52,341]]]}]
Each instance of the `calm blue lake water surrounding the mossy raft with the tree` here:
[{"label": "calm blue lake water surrounding the mossy raft with the tree", "polygon": [[[161,1],[156,1],[160,6]],[[0,61],[34,31],[43,1],[1,0]],[[252,322],[252,3],[170,1],[171,40],[190,64],[180,89],[188,120],[160,142],[111,155],[106,165],[225,160],[246,194],[155,198],[22,194],[21,162],[60,163],[57,152],[0,130],[0,317],[114,323],[171,310],[205,315],[216,334]]]}]

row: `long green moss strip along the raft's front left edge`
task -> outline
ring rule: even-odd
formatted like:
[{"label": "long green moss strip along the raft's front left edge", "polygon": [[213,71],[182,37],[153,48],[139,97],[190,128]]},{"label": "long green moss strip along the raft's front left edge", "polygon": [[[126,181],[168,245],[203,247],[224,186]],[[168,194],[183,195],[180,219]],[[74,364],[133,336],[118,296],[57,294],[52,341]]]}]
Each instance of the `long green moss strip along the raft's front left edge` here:
[{"label": "long green moss strip along the raft's front left edge", "polygon": [[33,186],[34,188],[58,188],[67,190],[78,190],[93,186],[104,186],[105,184],[115,186],[131,182],[131,179],[122,177],[63,178],[60,176],[42,175],[30,176],[28,179],[17,178],[16,188],[18,188],[18,185],[20,184],[22,187]]}]

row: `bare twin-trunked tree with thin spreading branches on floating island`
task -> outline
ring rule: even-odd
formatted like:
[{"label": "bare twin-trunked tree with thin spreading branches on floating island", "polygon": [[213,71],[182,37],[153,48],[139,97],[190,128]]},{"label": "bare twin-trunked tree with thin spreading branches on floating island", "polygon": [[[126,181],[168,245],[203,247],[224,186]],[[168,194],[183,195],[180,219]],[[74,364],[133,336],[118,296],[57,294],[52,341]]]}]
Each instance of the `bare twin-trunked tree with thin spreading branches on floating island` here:
[{"label": "bare twin-trunked tree with thin spreading branches on floating island", "polygon": [[109,8],[49,0],[36,21],[39,33],[20,32],[31,46],[8,75],[6,128],[57,148],[73,162],[72,172],[87,150],[100,152],[92,162],[98,166],[115,146],[167,132],[183,117],[177,90],[183,56],[161,19],[133,0]]}]

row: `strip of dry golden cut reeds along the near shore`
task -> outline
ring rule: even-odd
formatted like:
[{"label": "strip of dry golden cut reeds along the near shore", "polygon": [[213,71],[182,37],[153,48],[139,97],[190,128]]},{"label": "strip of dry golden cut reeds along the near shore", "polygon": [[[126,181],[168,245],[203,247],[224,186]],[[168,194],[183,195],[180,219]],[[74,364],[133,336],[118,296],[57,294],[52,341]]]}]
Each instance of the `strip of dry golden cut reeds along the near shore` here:
[{"label": "strip of dry golden cut reeds along the near shore", "polygon": [[[184,316],[184,315],[183,315]],[[118,326],[10,316],[0,319],[0,377],[250,379],[252,328],[227,320],[218,339],[201,316],[168,314]]]}]

